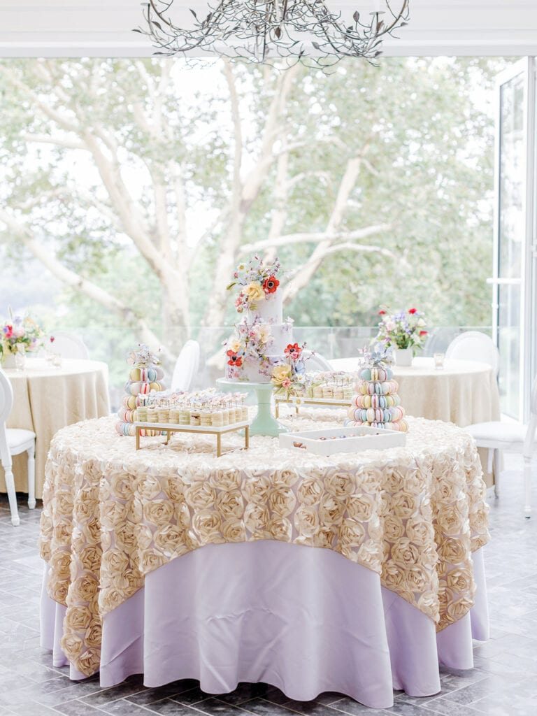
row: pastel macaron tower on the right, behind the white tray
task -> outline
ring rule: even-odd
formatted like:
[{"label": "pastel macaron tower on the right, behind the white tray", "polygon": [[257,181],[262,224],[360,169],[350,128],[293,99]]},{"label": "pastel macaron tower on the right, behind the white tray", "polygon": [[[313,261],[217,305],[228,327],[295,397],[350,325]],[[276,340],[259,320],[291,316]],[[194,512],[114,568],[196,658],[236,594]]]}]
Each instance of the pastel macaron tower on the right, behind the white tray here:
[{"label": "pastel macaron tower on the right, behind the white tray", "polygon": [[368,425],[385,430],[406,432],[408,425],[403,418],[405,408],[401,407],[397,395],[398,384],[390,368],[390,349],[364,354],[363,367],[359,371],[356,391],[347,415],[347,425]]}]

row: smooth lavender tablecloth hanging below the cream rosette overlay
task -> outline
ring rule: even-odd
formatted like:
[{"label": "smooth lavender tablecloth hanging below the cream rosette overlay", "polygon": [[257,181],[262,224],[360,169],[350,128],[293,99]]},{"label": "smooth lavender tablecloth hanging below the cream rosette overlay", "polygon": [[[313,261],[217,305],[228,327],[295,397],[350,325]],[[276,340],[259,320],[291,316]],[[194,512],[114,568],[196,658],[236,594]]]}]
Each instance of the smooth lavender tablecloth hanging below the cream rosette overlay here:
[{"label": "smooth lavender tablecloth hanging below the cream rosette overlay", "polygon": [[[143,673],[146,686],[199,679],[207,693],[266,682],[289,698],[339,692],[387,708],[392,690],[440,691],[439,664],[473,667],[472,639],[488,639],[483,550],[473,554],[473,609],[442,632],[341,555],[276,541],[208,545],[148,574],[105,616],[103,687]],[[42,646],[68,664],[65,607],[42,599]],[[84,674],[71,667],[72,679]]]}]

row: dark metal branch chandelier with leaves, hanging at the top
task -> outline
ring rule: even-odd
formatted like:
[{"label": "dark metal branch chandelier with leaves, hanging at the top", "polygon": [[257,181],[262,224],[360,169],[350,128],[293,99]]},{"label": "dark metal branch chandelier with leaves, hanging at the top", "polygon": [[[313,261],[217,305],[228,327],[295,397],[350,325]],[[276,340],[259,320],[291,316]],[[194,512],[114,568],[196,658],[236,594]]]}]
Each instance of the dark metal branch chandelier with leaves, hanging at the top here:
[{"label": "dark metal branch chandelier with leaves, hanging at the top", "polygon": [[330,11],[324,0],[213,0],[203,19],[190,10],[193,26],[184,29],[169,18],[173,1],[142,2],[147,27],[135,32],[150,37],[159,48],[155,54],[198,51],[258,63],[305,59],[321,68],[343,57],[374,61],[382,52],[382,39],[395,37],[395,30],[405,26],[409,17],[409,0],[397,0],[399,9],[392,8],[394,0],[384,0],[382,12],[377,1],[374,12],[355,11],[352,21]]}]

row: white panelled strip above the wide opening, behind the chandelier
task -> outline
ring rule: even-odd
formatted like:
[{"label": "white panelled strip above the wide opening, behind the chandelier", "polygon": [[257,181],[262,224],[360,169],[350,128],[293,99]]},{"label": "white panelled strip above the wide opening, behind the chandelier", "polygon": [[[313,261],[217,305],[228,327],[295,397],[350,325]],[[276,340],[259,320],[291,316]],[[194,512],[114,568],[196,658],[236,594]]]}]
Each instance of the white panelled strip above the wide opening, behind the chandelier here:
[{"label": "white panelled strip above the wide opening, behind the chandelier", "polygon": [[[347,14],[373,0],[326,0]],[[398,0],[392,0],[394,7]],[[206,10],[203,0],[175,0]],[[349,10],[350,9],[350,10]],[[150,55],[140,0],[0,0],[0,57]],[[537,0],[410,0],[410,24],[385,55],[536,55]]]}]

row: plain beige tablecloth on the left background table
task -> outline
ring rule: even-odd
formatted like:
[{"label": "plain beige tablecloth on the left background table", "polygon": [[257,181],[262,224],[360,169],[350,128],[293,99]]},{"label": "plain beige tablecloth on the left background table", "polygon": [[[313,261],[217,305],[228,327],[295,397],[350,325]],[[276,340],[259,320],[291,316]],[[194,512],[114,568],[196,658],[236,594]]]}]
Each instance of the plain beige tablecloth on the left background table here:
[{"label": "plain beige tablecloth on the left background table", "polygon": [[[13,409],[7,427],[33,430],[36,443],[36,497],[42,498],[45,463],[50,441],[66,425],[110,413],[107,364],[93,360],[63,359],[54,368],[39,358],[26,360],[24,370],[5,371],[13,386]],[[15,488],[26,490],[26,455],[14,458]],[[1,489],[5,490],[0,467]]]}]

